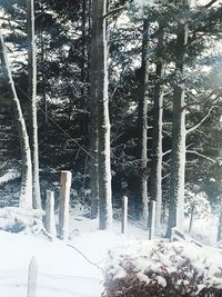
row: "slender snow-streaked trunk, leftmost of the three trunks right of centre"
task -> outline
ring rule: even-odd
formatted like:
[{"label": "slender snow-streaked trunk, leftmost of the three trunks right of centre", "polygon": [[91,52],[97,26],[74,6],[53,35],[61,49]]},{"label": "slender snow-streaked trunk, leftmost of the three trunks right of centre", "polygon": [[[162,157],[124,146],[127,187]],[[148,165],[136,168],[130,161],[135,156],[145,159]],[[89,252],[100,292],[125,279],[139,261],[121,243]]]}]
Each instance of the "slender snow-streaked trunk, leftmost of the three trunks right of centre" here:
[{"label": "slender snow-streaked trunk, leftmost of the three trunks right of centre", "polygon": [[149,22],[143,22],[143,44],[142,44],[142,95],[139,102],[139,131],[140,131],[140,154],[141,154],[141,219],[148,221],[148,99],[149,99]]}]

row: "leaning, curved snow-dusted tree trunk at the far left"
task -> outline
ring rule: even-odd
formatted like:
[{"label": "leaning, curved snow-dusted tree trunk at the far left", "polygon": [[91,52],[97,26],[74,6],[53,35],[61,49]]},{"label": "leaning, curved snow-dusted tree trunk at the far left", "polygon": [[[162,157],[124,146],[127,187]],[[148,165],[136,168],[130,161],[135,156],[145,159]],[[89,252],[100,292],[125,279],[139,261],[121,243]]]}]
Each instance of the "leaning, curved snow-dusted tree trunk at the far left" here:
[{"label": "leaning, curved snow-dusted tree trunk at the far left", "polygon": [[0,60],[2,65],[3,75],[6,82],[8,83],[10,91],[10,99],[12,100],[14,119],[18,122],[21,156],[22,156],[22,180],[21,180],[21,194],[20,194],[20,207],[26,209],[32,208],[32,164],[31,164],[31,151],[29,146],[29,137],[24,118],[22,115],[19,98],[14,87],[7,51],[4,48],[3,37],[0,32]]}]

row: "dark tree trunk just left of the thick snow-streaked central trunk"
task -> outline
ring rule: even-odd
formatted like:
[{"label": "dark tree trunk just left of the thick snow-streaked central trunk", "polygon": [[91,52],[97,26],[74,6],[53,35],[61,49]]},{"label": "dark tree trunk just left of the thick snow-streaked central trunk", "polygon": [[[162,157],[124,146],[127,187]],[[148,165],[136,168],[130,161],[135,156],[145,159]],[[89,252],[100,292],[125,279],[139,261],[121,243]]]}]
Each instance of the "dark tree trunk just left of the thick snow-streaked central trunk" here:
[{"label": "dark tree trunk just left of the thick snow-streaked central trunk", "polygon": [[[91,9],[92,8],[92,9]],[[91,44],[90,44],[90,189],[91,189],[91,218],[98,216],[99,178],[98,178],[98,100],[97,100],[97,30],[95,30],[95,7],[91,6],[92,18]],[[90,24],[90,23],[89,23]]]}]

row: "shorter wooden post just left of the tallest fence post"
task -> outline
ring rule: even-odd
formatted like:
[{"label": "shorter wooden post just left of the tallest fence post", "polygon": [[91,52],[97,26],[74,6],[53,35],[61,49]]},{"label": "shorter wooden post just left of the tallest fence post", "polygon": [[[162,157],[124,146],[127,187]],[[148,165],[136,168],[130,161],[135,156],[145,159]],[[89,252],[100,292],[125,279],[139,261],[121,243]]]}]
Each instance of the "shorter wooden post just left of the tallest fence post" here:
[{"label": "shorter wooden post just left of the tallest fence post", "polygon": [[46,202],[46,230],[53,237],[57,236],[56,220],[54,220],[54,192],[47,190]]}]

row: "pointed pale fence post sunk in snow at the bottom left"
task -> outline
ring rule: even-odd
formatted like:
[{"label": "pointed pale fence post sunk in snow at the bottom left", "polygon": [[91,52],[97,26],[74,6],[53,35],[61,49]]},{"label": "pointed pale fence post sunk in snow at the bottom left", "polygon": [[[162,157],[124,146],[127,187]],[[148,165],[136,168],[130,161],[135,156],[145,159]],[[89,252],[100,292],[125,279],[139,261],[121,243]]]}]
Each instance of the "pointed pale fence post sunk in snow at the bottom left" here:
[{"label": "pointed pale fence post sunk in snow at the bottom left", "polygon": [[29,265],[27,297],[37,296],[37,279],[38,279],[38,266],[36,258],[32,257]]}]

